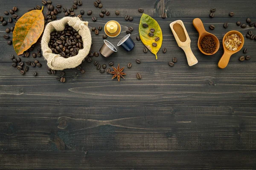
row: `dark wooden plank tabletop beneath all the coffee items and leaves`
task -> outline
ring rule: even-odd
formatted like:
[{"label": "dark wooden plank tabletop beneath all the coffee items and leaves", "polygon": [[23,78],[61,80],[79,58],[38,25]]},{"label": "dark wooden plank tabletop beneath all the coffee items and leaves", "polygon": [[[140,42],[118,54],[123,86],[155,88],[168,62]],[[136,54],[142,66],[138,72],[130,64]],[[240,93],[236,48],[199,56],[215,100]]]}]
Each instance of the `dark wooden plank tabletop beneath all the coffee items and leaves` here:
[{"label": "dark wooden plank tabletop beneath all the coffee items and leaves", "polygon": [[[70,8],[73,0],[53,0]],[[110,16],[100,18],[93,0],[82,0],[81,9],[93,10],[98,17],[90,28],[104,26],[117,20],[122,33],[109,38],[114,45],[134,27],[133,51],[118,52],[109,58],[93,57],[101,64],[113,61],[124,66],[127,74],[118,82],[112,75],[100,74],[92,63],[84,62],[85,74],[76,69],[66,70],[67,81],[47,74],[44,58],[37,58],[41,68],[30,68],[22,76],[12,68],[12,46],[3,39],[0,26],[0,169],[87,169],[87,170],[252,170],[256,169],[256,41],[245,38],[249,61],[239,61],[239,51],[221,70],[217,63],[223,48],[213,56],[201,54],[197,47],[198,33],[192,25],[200,17],[207,31],[220,42],[227,31],[237,30],[244,35],[255,27],[242,29],[236,21],[246,23],[247,17],[256,22],[255,0],[102,0]],[[17,6],[23,15],[41,0],[1,0],[0,13]],[[215,7],[214,18],[209,10]],[[163,47],[158,60],[144,54],[142,42],[136,40],[141,13],[154,17],[163,31]],[[116,16],[114,12],[120,11]],[[167,11],[168,18],[160,16]],[[235,12],[229,17],[229,12]],[[46,10],[44,10],[46,13]],[[134,17],[125,21],[125,15]],[[57,15],[60,19],[64,13]],[[7,17],[5,20],[7,20]],[[198,64],[189,67],[185,54],[177,46],[169,24],[183,20],[191,38],[191,48]],[[228,28],[223,24],[229,23]],[[214,24],[215,30],[209,30]],[[99,51],[102,35],[92,33],[91,51]],[[12,34],[9,34],[12,36]],[[35,50],[40,48],[36,44]],[[17,56],[17,55],[15,55]],[[177,57],[170,67],[168,62]],[[140,58],[138,65],[135,60]],[[30,55],[28,59],[34,59]],[[127,68],[132,62],[132,68]],[[38,72],[33,77],[33,71]],[[141,73],[142,79],[136,78]]]}]

